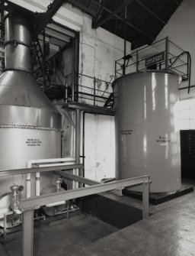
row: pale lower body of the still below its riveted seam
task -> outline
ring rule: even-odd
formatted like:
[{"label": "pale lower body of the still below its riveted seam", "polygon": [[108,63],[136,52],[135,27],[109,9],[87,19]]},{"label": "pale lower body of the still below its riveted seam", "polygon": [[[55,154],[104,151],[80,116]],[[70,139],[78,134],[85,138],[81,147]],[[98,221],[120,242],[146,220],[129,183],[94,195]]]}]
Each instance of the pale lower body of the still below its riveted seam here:
[{"label": "pale lower body of the still below its riveted seam", "polygon": [[[0,170],[27,168],[27,161],[61,157],[61,132],[50,128],[0,128]],[[40,191],[45,186],[55,185],[53,173],[40,174]],[[24,186],[26,175],[0,178],[0,195],[11,192],[10,186]],[[35,196],[35,174],[31,175],[31,196]],[[0,206],[1,207],[1,206]]]}]

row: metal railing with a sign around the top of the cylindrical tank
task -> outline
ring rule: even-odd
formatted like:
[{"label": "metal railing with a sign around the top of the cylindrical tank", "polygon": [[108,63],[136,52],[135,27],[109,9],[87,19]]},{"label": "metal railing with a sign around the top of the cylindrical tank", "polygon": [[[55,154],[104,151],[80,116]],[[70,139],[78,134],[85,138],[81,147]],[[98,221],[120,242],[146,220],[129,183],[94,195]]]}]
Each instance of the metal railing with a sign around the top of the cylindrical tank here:
[{"label": "metal railing with a sign around the top of the cylindrical tank", "polygon": [[115,61],[115,76],[145,70],[172,70],[190,79],[190,53],[165,37]]}]

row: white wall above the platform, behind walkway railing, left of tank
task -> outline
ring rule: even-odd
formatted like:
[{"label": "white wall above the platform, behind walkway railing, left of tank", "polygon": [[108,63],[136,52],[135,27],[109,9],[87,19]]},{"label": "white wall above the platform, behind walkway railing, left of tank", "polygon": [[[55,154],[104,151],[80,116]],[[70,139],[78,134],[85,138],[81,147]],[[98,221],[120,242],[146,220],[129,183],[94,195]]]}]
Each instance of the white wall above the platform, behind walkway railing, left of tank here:
[{"label": "white wall above the platform, behind walkway railing, left of tank", "polygon": [[[127,53],[130,53],[131,44],[127,43]],[[114,76],[115,60],[123,57],[123,39],[111,34],[103,28],[97,30],[91,29],[91,17],[84,15],[83,26],[80,33],[80,73],[107,82]],[[82,85],[93,88],[93,79],[81,76],[79,81]],[[111,86],[106,87],[106,83],[100,81],[96,83],[96,88],[106,92],[104,96],[109,96]],[[93,93],[93,90],[81,88],[82,92]],[[102,96],[103,92],[98,92]],[[88,97],[90,98],[90,97]],[[91,98],[92,99],[92,98]],[[82,99],[81,102],[92,103],[90,100]],[[104,105],[102,102],[96,102],[96,105]]]}]

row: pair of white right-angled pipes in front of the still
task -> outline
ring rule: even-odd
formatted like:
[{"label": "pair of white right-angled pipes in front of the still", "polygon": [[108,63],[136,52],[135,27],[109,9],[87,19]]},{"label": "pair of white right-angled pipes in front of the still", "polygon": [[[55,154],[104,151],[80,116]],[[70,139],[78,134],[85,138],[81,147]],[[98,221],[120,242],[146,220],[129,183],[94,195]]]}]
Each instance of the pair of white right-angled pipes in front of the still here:
[{"label": "pair of white right-angled pipes in front of the still", "polygon": [[[31,168],[32,164],[39,164],[40,167],[54,167],[54,166],[60,166],[64,165],[64,163],[60,164],[48,164],[48,163],[57,163],[57,162],[66,162],[66,164],[72,164],[72,161],[75,162],[74,157],[66,157],[66,158],[50,158],[50,159],[37,159],[37,160],[28,160],[27,161],[27,168]],[[46,164],[44,164],[46,163]],[[26,186],[27,186],[27,192],[26,197],[30,197],[30,190],[31,190],[31,175],[30,173],[27,173],[27,179],[26,179]],[[40,196],[40,173],[36,173],[36,182],[35,182],[35,195]]]}]

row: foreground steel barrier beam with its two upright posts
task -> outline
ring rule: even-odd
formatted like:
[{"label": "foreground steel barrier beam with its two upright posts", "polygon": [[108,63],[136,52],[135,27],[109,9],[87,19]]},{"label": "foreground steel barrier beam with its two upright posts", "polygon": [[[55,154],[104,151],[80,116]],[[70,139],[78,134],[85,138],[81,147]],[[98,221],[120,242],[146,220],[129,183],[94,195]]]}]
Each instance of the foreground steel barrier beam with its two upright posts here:
[{"label": "foreground steel barrier beam with its two upright posts", "polygon": [[[58,174],[62,175],[62,172]],[[82,181],[83,183],[91,183],[91,180],[83,177],[78,177],[67,173],[69,179]],[[149,176],[145,175],[142,177],[136,177],[127,180],[118,180],[111,183],[100,183],[94,186],[88,186],[79,188],[77,190],[67,190],[62,193],[53,193],[50,195],[35,196],[27,199],[20,200],[20,209],[23,212],[23,223],[22,223],[22,255],[33,256],[33,233],[34,233],[34,209],[40,208],[47,203],[54,203],[61,201],[62,199],[69,200],[75,199],[82,196],[89,196],[96,193],[107,192],[115,189],[122,189],[129,186],[142,185],[142,218],[145,219],[149,215]]]}]

